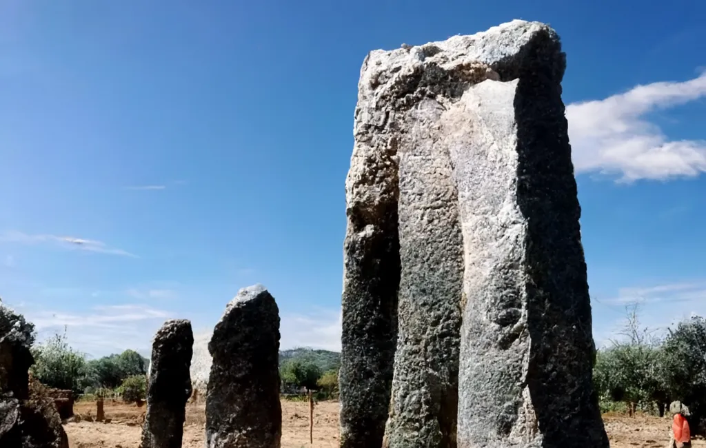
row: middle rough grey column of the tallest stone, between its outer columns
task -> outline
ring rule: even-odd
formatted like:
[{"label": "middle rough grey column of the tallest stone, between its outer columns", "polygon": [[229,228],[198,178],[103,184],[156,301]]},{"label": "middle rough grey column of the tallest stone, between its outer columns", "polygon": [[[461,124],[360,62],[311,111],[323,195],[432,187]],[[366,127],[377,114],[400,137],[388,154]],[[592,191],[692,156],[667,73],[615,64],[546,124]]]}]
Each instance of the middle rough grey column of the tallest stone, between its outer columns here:
[{"label": "middle rough grey column of the tallest stone, between its outer columns", "polygon": [[463,258],[443,106],[398,110],[399,333],[384,447],[455,447]]}]

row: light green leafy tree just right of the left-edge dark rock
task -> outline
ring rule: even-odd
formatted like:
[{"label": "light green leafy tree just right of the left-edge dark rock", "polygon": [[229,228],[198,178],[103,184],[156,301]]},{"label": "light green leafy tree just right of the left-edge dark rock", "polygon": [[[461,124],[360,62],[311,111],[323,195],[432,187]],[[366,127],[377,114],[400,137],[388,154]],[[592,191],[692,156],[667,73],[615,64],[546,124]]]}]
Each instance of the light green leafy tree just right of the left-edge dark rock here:
[{"label": "light green leafy tree just right of the left-edge dark rock", "polygon": [[32,375],[42,384],[58,389],[71,389],[83,393],[86,387],[95,385],[97,375],[92,366],[86,363],[85,354],[74,351],[66,342],[64,334],[55,334],[32,349],[35,364]]}]

